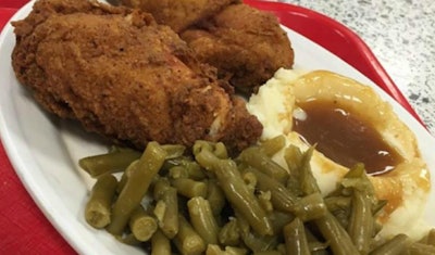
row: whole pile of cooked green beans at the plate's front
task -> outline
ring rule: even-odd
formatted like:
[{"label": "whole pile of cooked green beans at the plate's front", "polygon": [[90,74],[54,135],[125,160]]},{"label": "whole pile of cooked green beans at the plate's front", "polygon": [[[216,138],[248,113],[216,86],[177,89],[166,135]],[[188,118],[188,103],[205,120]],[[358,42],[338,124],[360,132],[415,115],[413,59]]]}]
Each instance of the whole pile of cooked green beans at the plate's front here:
[{"label": "whole pile of cooked green beans at the plate's front", "polygon": [[[288,170],[272,160],[281,150]],[[386,202],[362,164],[321,194],[313,150],[277,137],[235,157],[208,141],[85,157],[79,165],[96,178],[85,219],[151,255],[435,254],[435,230],[420,242],[375,239]]]}]

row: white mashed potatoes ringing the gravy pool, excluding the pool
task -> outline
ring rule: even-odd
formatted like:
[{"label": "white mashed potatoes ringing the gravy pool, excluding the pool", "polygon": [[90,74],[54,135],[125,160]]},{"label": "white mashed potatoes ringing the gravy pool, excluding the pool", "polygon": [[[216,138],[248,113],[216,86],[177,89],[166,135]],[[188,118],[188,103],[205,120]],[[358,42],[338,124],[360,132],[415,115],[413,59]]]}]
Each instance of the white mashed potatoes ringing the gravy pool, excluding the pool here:
[{"label": "white mashed potatoes ringing the gravy pool, excluding the pool", "polygon": [[[370,177],[377,196],[388,201],[378,218],[384,226],[380,235],[405,232],[418,239],[424,234],[428,226],[421,218],[430,192],[428,170],[413,133],[370,87],[325,71],[279,69],[250,98],[247,107],[264,126],[262,139],[285,135],[288,144],[304,151],[309,144],[295,131],[294,119],[304,119],[307,114],[300,105],[313,100],[331,101],[357,113],[400,156],[388,171]],[[274,160],[286,167],[282,152]],[[320,151],[314,152],[311,167],[324,194],[334,190],[348,171],[348,166]]]}]

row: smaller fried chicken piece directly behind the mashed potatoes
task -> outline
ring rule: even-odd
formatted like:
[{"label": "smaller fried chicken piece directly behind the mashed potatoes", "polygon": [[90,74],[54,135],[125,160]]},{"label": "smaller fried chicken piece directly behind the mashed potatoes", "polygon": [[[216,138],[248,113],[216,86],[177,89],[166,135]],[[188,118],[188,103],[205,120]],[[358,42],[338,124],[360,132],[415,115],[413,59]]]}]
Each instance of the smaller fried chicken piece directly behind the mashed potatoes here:
[{"label": "smaller fried chicken piece directly behind the mashed potatoes", "polygon": [[247,4],[232,4],[181,37],[200,61],[219,69],[241,90],[264,84],[279,67],[291,68],[294,51],[286,33],[271,13]]}]

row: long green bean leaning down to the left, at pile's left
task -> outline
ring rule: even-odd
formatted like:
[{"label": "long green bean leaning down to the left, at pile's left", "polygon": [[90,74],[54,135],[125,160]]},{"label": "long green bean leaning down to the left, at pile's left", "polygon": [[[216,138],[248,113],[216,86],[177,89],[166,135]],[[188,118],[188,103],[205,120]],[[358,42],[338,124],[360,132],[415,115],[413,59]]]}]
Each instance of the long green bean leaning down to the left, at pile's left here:
[{"label": "long green bean leaning down to the left, at pile's left", "polygon": [[132,176],[127,179],[112,209],[108,231],[121,235],[133,211],[139,205],[148,191],[153,177],[163,165],[166,152],[157,142],[149,142]]}]

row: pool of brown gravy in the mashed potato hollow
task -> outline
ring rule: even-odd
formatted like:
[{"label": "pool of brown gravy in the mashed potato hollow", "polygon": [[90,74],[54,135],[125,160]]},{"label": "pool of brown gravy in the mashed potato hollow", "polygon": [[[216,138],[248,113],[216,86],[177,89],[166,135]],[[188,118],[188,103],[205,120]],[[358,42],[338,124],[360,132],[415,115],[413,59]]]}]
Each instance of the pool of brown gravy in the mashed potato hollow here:
[{"label": "pool of brown gravy in the mashed potato hollow", "polygon": [[294,118],[294,130],[334,162],[346,167],[363,163],[368,174],[380,175],[402,161],[370,123],[336,102],[314,100],[299,107],[307,118]]}]

